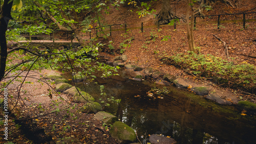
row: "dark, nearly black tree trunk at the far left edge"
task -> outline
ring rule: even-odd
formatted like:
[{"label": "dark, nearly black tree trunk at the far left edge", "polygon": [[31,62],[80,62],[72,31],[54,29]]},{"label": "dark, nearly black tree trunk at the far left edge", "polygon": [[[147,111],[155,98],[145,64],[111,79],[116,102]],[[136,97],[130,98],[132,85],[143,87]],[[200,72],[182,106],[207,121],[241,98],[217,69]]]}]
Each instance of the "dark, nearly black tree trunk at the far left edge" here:
[{"label": "dark, nearly black tree trunk at the far left edge", "polygon": [[[2,4],[2,1],[0,1]],[[0,7],[0,81],[5,76],[6,59],[7,59],[7,42],[6,42],[6,31],[8,22],[12,19],[11,8],[13,1],[4,1],[2,7]]]}]

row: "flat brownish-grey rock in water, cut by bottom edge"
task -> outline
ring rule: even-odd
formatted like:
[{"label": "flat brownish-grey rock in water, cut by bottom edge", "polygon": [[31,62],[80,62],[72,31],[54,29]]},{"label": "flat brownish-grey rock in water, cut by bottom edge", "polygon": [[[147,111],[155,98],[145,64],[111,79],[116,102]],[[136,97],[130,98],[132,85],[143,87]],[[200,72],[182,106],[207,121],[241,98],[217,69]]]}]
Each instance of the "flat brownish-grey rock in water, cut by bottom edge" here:
[{"label": "flat brownish-grey rock in water, cut by bottom edge", "polygon": [[161,143],[161,144],[175,144],[177,143],[177,141],[173,138],[170,138],[170,137],[164,137],[164,136],[161,136],[161,135],[156,135],[156,134],[153,134],[150,136],[150,142],[152,144],[156,144],[156,143]]}]

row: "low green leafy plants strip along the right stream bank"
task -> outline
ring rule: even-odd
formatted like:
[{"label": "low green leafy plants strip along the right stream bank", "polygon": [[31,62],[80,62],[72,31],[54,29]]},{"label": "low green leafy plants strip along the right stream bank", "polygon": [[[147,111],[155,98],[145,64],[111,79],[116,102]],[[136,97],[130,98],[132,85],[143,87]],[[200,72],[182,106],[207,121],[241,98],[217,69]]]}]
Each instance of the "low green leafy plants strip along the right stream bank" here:
[{"label": "low green leafy plants strip along the right stream bank", "polygon": [[186,68],[195,75],[221,77],[244,86],[255,86],[256,84],[256,67],[247,62],[234,64],[219,57],[195,54],[194,52],[167,58],[171,63]]}]

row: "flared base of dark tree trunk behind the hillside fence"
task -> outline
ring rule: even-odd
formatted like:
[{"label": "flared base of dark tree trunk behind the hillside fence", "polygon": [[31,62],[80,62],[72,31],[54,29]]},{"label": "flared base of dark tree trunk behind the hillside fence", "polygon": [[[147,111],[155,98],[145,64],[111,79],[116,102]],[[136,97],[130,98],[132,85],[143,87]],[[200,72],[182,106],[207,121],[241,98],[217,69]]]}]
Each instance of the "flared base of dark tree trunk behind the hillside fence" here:
[{"label": "flared base of dark tree trunk behind the hillside fence", "polygon": [[156,16],[155,23],[158,24],[159,21],[159,24],[167,24],[171,21],[171,19],[177,18],[184,21],[182,16],[178,16],[175,12],[173,12],[172,8],[170,7],[170,0],[163,0],[161,10]]}]

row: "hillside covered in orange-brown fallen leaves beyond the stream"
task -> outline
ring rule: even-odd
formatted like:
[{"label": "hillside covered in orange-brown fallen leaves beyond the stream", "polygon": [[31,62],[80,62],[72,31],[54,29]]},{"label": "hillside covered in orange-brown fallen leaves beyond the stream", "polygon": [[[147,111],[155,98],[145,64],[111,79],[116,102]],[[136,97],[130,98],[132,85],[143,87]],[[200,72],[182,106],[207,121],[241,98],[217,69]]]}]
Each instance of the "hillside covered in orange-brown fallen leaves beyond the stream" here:
[{"label": "hillside covered in orange-brown fallen leaves beyond the stream", "polygon": [[[217,2],[212,10],[207,12],[204,11],[204,14],[214,15],[253,12],[253,10],[251,10],[255,7],[253,4],[255,4],[255,1],[243,1],[243,3],[240,3],[238,5],[238,8],[232,8],[221,2]],[[154,9],[156,9],[156,13],[160,11],[161,3],[159,1],[153,2],[151,5]],[[186,11],[185,6],[185,1],[180,1],[179,4],[175,5],[177,14],[184,15]],[[172,7],[174,7],[174,4],[172,5]],[[133,10],[133,12],[131,12],[130,10]],[[143,22],[144,26],[154,25],[154,19],[152,16],[138,18],[139,16],[136,13],[136,9],[130,7],[120,7],[119,10],[112,9],[110,14],[105,16],[105,22],[109,25],[125,22],[128,23],[127,28],[140,27],[141,22]],[[221,16],[220,19],[242,19],[242,16],[242,14]],[[209,16],[205,19],[197,18],[197,22],[217,21],[217,18],[218,16]],[[246,18],[255,19],[256,14],[248,14]],[[106,45],[109,45],[109,41],[112,41],[111,45],[113,45],[115,49],[113,50],[110,49],[109,46],[105,46],[105,48],[102,50],[102,52],[104,53],[102,53],[101,55],[105,58],[113,59],[115,56],[121,54],[121,50],[123,54],[128,56],[128,60],[133,64],[142,66],[144,68],[152,67],[155,70],[162,71],[164,74],[171,74],[177,77],[197,81],[198,83],[204,83],[205,85],[208,85],[207,83],[200,81],[200,79],[197,79],[199,75],[195,77],[195,75],[191,75],[191,73],[184,71],[182,67],[178,68],[170,64],[165,64],[170,62],[163,61],[166,56],[185,54],[188,51],[186,27],[184,25],[184,22],[181,22],[180,24],[181,25],[178,25],[176,27],[176,30],[174,29],[174,26],[170,26],[161,27],[160,30],[157,30],[157,28],[147,28],[144,29],[143,33],[141,33],[140,29],[129,30],[126,34],[124,33],[124,31],[112,32],[112,36],[108,37],[107,39],[100,38],[98,41]],[[253,65],[256,64],[256,22],[247,22],[246,29],[243,29],[242,22],[221,23],[220,29],[217,29],[217,23],[196,25],[194,35],[196,46],[198,47],[200,53],[203,55],[210,54],[212,56],[222,58],[223,60],[233,62],[234,65],[241,63],[249,63]],[[229,52],[229,58],[227,58],[225,55],[225,47],[223,45],[223,42],[217,39],[214,35],[218,36],[224,42],[226,42]],[[163,38],[166,39],[163,40]],[[125,43],[125,41],[128,46],[120,46]],[[234,89],[230,89],[233,86],[229,83],[218,84],[213,83],[211,80],[207,82],[214,85],[214,87],[230,91],[231,93],[232,91],[239,91],[236,94],[231,94],[231,97],[241,98],[242,96],[243,100],[252,101],[254,103],[256,102],[255,97],[251,97],[250,94],[245,95],[243,91],[244,89],[238,86],[235,86],[236,88]],[[249,91],[252,92],[253,89]]]}]

